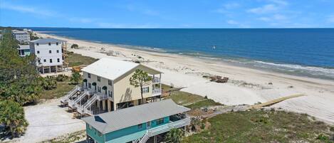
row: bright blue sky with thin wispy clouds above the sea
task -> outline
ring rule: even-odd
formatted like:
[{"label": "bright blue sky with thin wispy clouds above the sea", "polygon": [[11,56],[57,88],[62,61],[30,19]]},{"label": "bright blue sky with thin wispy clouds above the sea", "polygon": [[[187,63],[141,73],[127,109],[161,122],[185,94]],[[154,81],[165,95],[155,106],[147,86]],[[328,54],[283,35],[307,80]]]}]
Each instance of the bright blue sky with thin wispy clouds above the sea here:
[{"label": "bright blue sky with thin wispy clouds above the sea", "polygon": [[0,26],[334,27],[334,0],[1,0]]}]

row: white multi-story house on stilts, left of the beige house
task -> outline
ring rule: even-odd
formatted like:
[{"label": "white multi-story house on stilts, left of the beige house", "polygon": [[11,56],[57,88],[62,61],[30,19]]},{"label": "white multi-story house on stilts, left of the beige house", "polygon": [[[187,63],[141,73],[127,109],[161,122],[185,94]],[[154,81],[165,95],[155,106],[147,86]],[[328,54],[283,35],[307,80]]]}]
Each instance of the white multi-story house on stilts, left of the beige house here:
[{"label": "white multi-story house on stilts, left of the beige house", "polygon": [[56,73],[63,70],[63,48],[66,41],[41,38],[30,42],[31,54],[36,55],[40,73]]}]

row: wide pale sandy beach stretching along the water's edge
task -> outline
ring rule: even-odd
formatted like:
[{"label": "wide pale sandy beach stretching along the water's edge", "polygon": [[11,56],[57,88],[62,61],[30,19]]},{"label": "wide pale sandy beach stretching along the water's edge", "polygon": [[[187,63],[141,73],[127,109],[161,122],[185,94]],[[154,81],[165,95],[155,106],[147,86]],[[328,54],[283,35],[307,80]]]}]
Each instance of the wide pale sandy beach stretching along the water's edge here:
[{"label": "wide pale sandy beach stretching along the water's edge", "polygon": [[[68,51],[93,58],[141,60],[142,64],[164,73],[162,83],[182,87],[185,92],[207,95],[224,105],[253,105],[301,93],[306,96],[285,100],[273,107],[307,113],[318,120],[334,124],[334,81],[331,80],[255,70],[223,61],[186,55],[139,51],[110,44],[51,36],[46,33],[38,33],[38,36],[68,41]],[[79,48],[69,48],[73,43],[78,44]],[[113,55],[106,54],[111,53],[110,51],[113,51]],[[138,55],[141,58],[138,58]],[[203,75],[228,77],[229,82],[213,83],[202,78]]]}]

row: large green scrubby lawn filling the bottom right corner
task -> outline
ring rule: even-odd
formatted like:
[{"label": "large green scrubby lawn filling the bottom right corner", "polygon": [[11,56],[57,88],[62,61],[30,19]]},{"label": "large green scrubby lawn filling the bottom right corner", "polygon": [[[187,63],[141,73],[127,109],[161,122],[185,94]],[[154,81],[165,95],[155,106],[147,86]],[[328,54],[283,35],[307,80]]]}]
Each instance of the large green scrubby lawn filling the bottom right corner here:
[{"label": "large green scrubby lawn filling the bottom right corner", "polygon": [[305,114],[251,110],[217,115],[208,122],[209,129],[183,142],[333,142],[334,129]]}]

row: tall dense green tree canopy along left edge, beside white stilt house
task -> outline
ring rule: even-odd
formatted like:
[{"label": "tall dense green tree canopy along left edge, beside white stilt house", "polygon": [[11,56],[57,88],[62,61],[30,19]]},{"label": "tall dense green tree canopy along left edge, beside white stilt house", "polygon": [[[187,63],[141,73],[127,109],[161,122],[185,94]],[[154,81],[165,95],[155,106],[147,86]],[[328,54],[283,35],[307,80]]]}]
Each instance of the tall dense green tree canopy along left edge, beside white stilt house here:
[{"label": "tall dense green tree canopy along left edge, beside white stilt house", "polygon": [[36,101],[42,88],[35,55],[20,57],[18,47],[11,29],[4,29],[0,42],[0,99],[10,99],[24,105]]}]

